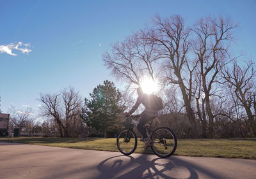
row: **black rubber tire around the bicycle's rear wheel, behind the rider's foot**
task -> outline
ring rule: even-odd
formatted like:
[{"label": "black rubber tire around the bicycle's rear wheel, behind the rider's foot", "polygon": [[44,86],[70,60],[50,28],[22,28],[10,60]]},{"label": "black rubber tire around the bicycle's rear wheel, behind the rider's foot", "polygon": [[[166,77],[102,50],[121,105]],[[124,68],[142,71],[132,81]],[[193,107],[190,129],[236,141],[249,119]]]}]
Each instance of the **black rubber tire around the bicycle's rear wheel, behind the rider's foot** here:
[{"label": "black rubber tire around the bicycle's rear wheel, behind the rider's foot", "polygon": [[[170,139],[165,139],[164,138],[164,135],[161,134],[161,132],[159,131],[167,131],[169,132],[172,136],[170,136]],[[160,134],[157,134],[157,132],[159,132]],[[165,134],[166,135],[166,134]],[[161,142],[161,140],[159,139],[159,142],[154,142],[154,136],[156,136],[156,138],[159,139],[159,136],[160,138],[162,139],[163,142]],[[169,137],[169,136],[167,136]],[[175,133],[172,131],[172,129],[168,128],[168,127],[158,127],[153,133],[152,135],[150,136],[150,139],[152,140],[152,145],[150,146],[152,151],[154,152],[154,154],[156,154],[158,157],[162,157],[162,158],[166,158],[166,157],[170,157],[171,155],[174,154],[176,148],[177,148],[177,137],[175,135]],[[167,140],[168,140],[168,143],[170,143],[171,145],[171,150],[170,152],[167,152],[165,151],[166,148],[166,143],[167,143]],[[156,143],[156,145],[154,145]],[[172,144],[173,143],[173,144]],[[160,148],[161,151],[164,152],[167,152],[166,154],[161,154],[159,152],[159,150],[157,150],[157,147]]]}]

